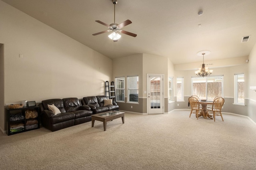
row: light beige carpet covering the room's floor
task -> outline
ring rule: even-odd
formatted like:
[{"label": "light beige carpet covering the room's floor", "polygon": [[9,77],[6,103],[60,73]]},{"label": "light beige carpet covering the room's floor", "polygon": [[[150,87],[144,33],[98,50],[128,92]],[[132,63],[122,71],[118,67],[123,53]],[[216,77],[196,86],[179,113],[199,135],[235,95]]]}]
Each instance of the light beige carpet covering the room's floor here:
[{"label": "light beige carpet covering the room's floor", "polygon": [[1,170],[255,170],[256,126],[224,114],[216,122],[190,111],[125,113],[50,132],[0,134]]}]

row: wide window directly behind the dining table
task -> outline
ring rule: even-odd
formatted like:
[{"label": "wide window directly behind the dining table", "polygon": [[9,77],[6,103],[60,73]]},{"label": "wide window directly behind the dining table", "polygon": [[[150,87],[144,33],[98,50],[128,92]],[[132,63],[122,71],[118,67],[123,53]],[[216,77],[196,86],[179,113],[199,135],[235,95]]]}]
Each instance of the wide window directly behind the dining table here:
[{"label": "wide window directly behind the dining table", "polygon": [[192,77],[192,95],[208,101],[223,96],[223,76]]}]

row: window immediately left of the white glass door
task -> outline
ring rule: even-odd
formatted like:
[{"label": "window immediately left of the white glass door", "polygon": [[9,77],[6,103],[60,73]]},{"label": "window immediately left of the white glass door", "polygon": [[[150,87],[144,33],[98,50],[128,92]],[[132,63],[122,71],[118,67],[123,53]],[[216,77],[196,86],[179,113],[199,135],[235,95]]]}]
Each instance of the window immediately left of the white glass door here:
[{"label": "window immediately left of the white glass door", "polygon": [[127,101],[128,102],[139,102],[138,95],[139,95],[139,76],[129,76],[127,77],[127,90],[128,90],[128,96]]}]

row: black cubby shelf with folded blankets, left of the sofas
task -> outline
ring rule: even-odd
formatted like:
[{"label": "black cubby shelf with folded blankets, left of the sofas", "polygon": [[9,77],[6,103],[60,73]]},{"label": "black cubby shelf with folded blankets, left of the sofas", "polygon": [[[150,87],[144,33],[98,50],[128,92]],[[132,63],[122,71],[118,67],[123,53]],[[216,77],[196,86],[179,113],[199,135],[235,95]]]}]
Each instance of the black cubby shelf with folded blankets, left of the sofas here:
[{"label": "black cubby shelf with folded blankets, left of the sofas", "polygon": [[[36,110],[37,111],[38,116],[36,118],[33,118],[33,119],[36,119],[38,121],[37,127],[36,128],[31,128],[31,129],[24,128],[24,130],[21,130],[21,131],[18,131],[18,132],[11,132],[10,131],[10,124],[11,123],[23,123],[24,127],[25,127],[28,120],[33,120],[33,119],[26,119],[26,117],[25,117],[26,110]],[[24,116],[24,120],[10,121],[10,115],[11,114],[17,114],[17,113],[22,113],[22,115]],[[6,116],[5,116],[6,117],[6,134],[8,136],[12,135],[12,134],[27,132],[29,130],[34,130],[34,129],[40,128],[40,107],[39,106],[22,107],[22,108],[19,108],[19,109],[6,108],[5,109],[5,114],[6,114]]]}]

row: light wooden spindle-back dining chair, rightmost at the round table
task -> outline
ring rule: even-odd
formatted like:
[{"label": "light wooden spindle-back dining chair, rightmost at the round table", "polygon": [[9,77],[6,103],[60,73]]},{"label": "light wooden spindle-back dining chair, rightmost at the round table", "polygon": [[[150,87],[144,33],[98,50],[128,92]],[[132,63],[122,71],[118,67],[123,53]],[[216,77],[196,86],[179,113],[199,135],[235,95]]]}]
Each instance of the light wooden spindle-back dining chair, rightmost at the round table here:
[{"label": "light wooden spindle-back dining chair, rightmost at the round table", "polygon": [[214,99],[212,108],[207,109],[206,117],[212,114],[214,122],[215,122],[215,116],[221,116],[222,121],[224,121],[221,113],[222,111],[221,109],[222,109],[222,106],[224,105],[224,102],[225,100],[223,97],[218,97]]}]

